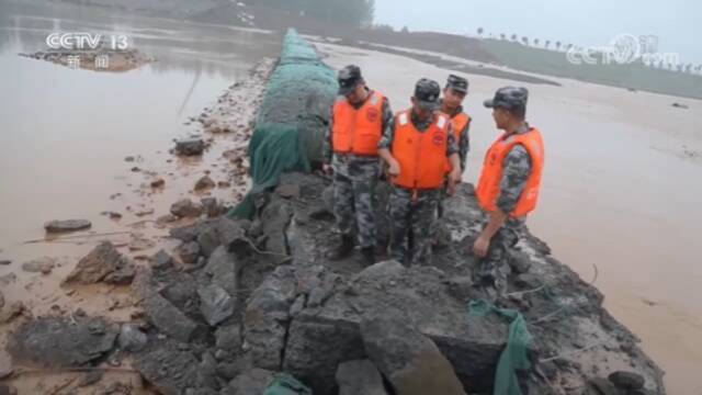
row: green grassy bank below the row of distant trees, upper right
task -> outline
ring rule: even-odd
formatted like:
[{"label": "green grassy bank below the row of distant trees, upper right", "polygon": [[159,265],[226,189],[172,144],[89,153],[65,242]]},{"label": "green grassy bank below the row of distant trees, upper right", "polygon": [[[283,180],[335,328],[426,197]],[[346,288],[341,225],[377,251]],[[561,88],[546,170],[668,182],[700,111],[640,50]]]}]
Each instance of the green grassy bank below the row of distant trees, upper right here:
[{"label": "green grassy bank below the row of distant trees, upper right", "polygon": [[625,65],[574,65],[568,61],[565,52],[530,47],[509,41],[488,38],[483,40],[480,46],[499,59],[500,64],[518,70],[702,99],[700,75],[647,67],[641,61]]}]

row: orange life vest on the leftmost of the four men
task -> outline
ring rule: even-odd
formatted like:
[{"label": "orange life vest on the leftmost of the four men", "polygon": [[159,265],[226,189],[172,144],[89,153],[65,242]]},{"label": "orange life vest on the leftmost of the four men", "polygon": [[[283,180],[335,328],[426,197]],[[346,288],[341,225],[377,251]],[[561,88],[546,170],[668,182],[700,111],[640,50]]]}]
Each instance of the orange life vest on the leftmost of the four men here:
[{"label": "orange life vest on the leftmost of the four men", "polygon": [[331,146],[338,154],[377,156],[383,135],[383,94],[372,92],[358,110],[346,98],[333,104]]}]

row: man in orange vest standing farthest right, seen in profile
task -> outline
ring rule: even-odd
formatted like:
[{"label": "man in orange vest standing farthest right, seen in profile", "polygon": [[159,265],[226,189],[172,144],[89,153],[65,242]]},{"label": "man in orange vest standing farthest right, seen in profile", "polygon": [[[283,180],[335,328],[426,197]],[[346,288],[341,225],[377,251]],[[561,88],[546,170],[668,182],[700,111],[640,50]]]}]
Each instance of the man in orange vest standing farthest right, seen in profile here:
[{"label": "man in orange vest standing farthest right, seen in profile", "polygon": [[506,87],[485,102],[505,133],[488,149],[476,190],[489,221],[473,245],[479,258],[474,276],[497,294],[506,290],[510,250],[526,214],[535,207],[541,184],[543,142],[539,129],[525,121],[528,97],[524,88]]}]

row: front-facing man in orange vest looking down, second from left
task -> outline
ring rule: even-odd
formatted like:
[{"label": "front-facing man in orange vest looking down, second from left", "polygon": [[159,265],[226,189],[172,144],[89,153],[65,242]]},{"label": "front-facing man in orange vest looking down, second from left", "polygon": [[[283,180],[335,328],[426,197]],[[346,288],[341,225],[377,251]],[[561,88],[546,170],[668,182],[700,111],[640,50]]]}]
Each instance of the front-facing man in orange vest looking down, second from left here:
[{"label": "front-facing man in orange vest looking down, second from left", "polygon": [[[440,91],[435,81],[419,80],[412,108],[393,119],[378,143],[378,154],[388,163],[393,182],[389,252],[399,262],[431,263],[431,230],[449,161],[453,166],[451,182],[461,181],[451,122],[438,112]],[[409,234],[410,251],[405,247]]]}]

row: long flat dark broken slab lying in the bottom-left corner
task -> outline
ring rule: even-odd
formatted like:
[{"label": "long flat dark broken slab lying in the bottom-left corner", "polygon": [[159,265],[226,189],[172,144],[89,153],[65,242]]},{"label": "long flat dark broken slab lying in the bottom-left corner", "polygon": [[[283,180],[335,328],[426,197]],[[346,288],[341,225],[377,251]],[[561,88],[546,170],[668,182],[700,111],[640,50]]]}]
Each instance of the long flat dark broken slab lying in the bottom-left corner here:
[{"label": "long flat dark broken slab lying in the bottom-left corner", "polygon": [[73,324],[68,318],[45,317],[20,326],[8,351],[15,361],[44,366],[80,366],[112,350],[118,327],[101,318]]}]

